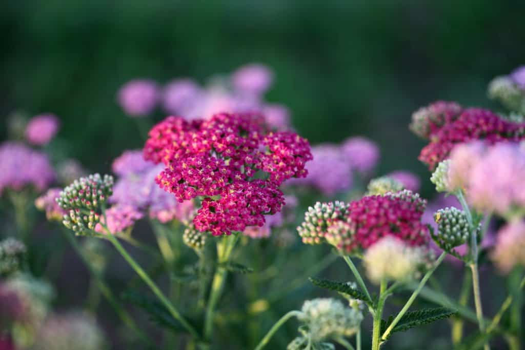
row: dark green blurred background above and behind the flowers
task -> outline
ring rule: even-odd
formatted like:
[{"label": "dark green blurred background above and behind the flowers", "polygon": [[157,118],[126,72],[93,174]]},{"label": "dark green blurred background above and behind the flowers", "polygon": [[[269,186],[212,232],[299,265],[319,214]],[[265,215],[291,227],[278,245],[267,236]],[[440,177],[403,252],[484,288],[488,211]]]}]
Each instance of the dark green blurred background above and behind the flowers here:
[{"label": "dark green blurred background above and behind the flowers", "polygon": [[511,0],[6,0],[0,115],[54,112],[63,152],[107,171],[142,146],[116,104],[123,83],[203,83],[255,61],[275,70],[268,100],[312,143],[365,135],[381,147],[381,172],[427,178],[411,112],[436,99],[490,106],[488,81],[525,62],[524,14]]}]

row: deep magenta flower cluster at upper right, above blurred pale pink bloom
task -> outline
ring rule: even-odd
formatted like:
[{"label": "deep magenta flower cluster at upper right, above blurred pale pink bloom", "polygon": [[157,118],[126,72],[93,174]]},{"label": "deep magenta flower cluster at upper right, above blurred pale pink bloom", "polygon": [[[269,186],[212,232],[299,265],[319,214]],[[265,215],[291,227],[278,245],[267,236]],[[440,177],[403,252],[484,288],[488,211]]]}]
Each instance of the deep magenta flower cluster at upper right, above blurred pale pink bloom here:
[{"label": "deep magenta flower cluster at upper right, above blurred pale pink bloom", "polygon": [[[444,102],[442,102],[444,103]],[[432,105],[431,105],[432,106]],[[430,107],[428,107],[430,108]],[[445,108],[445,110],[447,110]],[[460,112],[459,115],[457,113]],[[525,125],[514,123],[500,118],[490,110],[481,108],[458,109],[456,105],[452,111],[447,110],[440,115],[454,115],[454,117],[442,118],[443,124],[433,124],[433,114],[419,117],[426,120],[432,128],[428,127],[423,132],[420,128],[413,127],[420,136],[426,136],[430,143],[421,150],[419,160],[426,163],[429,169],[434,169],[440,161],[446,159],[451,150],[459,143],[473,140],[485,140],[493,145],[501,141],[519,141],[524,137]],[[414,124],[413,124],[414,125]]]}]

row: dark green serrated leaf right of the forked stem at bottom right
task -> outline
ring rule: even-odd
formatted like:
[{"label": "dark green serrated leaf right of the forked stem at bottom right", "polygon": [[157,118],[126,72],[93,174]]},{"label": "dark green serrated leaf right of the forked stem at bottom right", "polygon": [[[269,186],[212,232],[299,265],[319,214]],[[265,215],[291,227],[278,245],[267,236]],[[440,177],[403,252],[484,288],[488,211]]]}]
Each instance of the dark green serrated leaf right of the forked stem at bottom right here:
[{"label": "dark green serrated leaf right of the forked stem at bottom right", "polygon": [[[390,338],[395,332],[405,332],[411,328],[422,326],[428,323],[444,320],[456,314],[455,310],[447,307],[424,308],[422,310],[409,311],[401,317],[401,320],[392,328],[386,339]],[[392,324],[394,316],[388,317],[388,320],[381,321],[381,333]],[[384,340],[386,340],[384,339]]]}]

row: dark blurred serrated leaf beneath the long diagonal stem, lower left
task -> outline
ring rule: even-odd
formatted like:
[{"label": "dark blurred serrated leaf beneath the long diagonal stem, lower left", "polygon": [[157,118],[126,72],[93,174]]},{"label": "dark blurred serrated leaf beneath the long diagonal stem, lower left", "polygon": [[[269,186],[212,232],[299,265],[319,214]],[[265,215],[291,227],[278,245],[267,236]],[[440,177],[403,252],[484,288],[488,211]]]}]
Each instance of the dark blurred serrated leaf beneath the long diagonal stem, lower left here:
[{"label": "dark blurred serrated leaf beneath the long diagonal stem, lower left", "polygon": [[125,292],[122,294],[122,298],[142,308],[142,310],[150,315],[150,321],[155,322],[161,327],[170,328],[174,332],[187,332],[186,328],[175,320],[167,308],[161,303],[153,301],[149,297],[137,292]]}]

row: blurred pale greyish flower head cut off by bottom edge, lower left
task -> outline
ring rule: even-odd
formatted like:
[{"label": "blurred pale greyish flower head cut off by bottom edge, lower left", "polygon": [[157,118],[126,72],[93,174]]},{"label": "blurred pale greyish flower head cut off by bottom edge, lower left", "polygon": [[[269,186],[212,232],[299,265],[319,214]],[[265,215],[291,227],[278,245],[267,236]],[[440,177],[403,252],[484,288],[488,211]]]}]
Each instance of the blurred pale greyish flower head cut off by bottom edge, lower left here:
[{"label": "blurred pale greyish flower head cut off by bottom edge, lower left", "polygon": [[94,317],[80,312],[50,315],[41,325],[35,350],[100,350],[104,335]]}]

